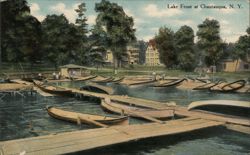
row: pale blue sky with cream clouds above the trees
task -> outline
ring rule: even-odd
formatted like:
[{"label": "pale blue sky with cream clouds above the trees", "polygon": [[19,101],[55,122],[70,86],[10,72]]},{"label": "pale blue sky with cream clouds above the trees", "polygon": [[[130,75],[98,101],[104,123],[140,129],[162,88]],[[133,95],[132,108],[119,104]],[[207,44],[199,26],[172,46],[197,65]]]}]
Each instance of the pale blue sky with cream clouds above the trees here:
[{"label": "pale blue sky with cream clouds above the trees", "polygon": [[[87,8],[87,23],[91,28],[95,24],[97,16],[94,10],[95,4],[100,1],[28,0],[28,3],[31,14],[39,21],[42,21],[46,15],[64,14],[70,22],[74,23],[77,18],[74,10],[80,3],[84,2]],[[162,26],[176,32],[181,26],[188,25],[196,34],[197,25],[208,18],[219,21],[220,35],[223,41],[236,42],[239,36],[246,34],[250,22],[249,0],[110,0],[110,2],[122,6],[125,13],[133,17],[136,37],[138,40],[143,39],[144,41],[152,39]],[[171,8],[173,5],[175,8]],[[196,6],[197,8],[195,8]],[[204,8],[203,6],[217,8]],[[224,6],[226,8],[221,8]]]}]

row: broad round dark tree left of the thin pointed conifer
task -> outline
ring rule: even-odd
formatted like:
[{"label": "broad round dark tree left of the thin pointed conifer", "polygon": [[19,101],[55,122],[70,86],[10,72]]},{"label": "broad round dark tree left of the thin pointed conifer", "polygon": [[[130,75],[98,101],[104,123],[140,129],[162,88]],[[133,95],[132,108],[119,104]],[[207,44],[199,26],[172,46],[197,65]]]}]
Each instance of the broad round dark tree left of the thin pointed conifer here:
[{"label": "broad round dark tree left of the thin pointed conifer", "polygon": [[48,15],[42,22],[43,54],[55,68],[60,64],[72,63],[78,57],[81,35],[74,24],[69,24],[62,15]]}]

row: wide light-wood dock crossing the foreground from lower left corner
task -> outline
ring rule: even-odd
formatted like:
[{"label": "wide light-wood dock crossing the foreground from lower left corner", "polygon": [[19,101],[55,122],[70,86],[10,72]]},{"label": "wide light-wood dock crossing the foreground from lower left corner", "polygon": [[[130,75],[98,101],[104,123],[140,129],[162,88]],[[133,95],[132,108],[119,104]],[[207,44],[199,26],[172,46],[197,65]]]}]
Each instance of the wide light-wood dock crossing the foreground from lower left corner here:
[{"label": "wide light-wood dock crossing the foreground from lower left corner", "polygon": [[73,153],[140,139],[187,133],[222,124],[199,118],[185,118],[168,121],[165,124],[148,123],[73,131],[0,142],[0,153],[4,155]]}]

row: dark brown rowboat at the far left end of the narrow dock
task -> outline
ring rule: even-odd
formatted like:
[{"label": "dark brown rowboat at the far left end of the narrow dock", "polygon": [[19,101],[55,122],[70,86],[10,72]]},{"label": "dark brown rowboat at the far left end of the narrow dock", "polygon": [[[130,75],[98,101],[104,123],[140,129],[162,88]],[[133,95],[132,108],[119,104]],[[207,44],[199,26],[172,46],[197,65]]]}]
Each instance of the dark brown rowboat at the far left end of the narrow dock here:
[{"label": "dark brown rowboat at the far left end of the narrow dock", "polygon": [[66,90],[66,89],[58,88],[54,86],[48,86],[48,85],[45,85],[43,82],[36,81],[36,80],[33,80],[33,83],[35,84],[35,86],[37,86],[39,89],[41,89],[42,91],[46,93],[60,95],[60,96],[72,96],[73,95],[71,90]]}]

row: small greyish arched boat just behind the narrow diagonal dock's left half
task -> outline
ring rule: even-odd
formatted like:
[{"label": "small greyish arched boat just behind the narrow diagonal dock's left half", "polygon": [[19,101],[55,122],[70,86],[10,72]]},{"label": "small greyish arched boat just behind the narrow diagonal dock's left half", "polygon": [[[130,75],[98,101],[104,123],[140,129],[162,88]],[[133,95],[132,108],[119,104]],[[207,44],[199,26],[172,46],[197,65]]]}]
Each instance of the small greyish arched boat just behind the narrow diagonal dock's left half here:
[{"label": "small greyish arched boat just behind the narrow diagonal dock's left half", "polygon": [[87,90],[91,92],[113,94],[114,90],[111,87],[98,85],[92,82],[88,82],[85,86],[82,86],[80,90]]}]

